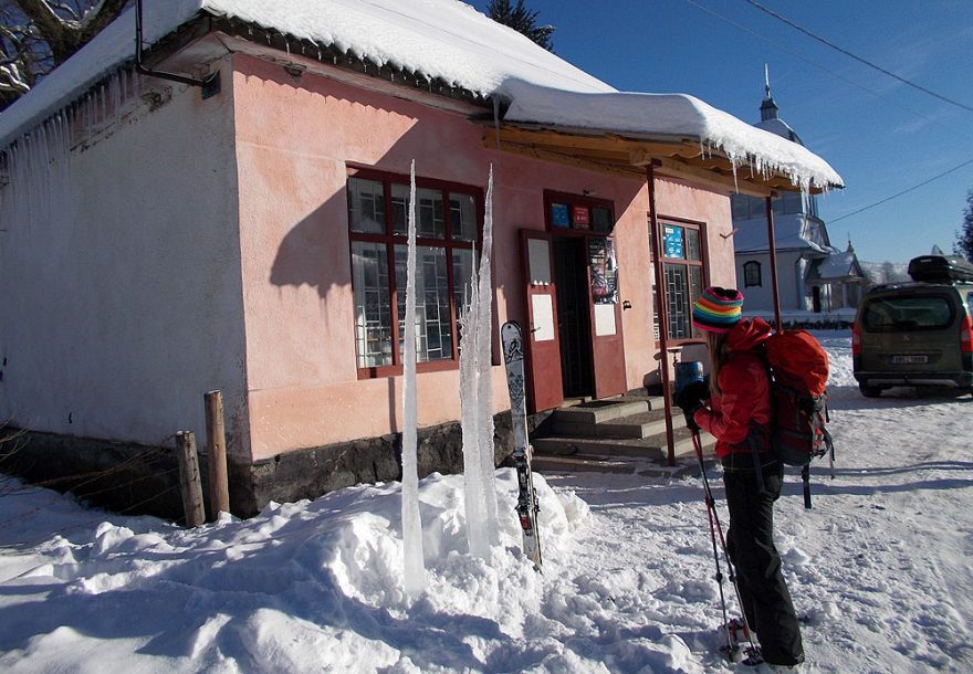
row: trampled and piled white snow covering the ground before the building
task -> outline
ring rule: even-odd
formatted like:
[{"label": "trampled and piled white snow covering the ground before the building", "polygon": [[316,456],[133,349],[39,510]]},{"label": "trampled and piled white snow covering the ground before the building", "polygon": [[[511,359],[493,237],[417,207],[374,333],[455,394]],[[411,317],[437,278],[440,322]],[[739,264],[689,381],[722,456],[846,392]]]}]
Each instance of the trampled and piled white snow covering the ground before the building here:
[{"label": "trampled and piled white snow covering the ground before the building", "polygon": [[[815,466],[805,510],[792,474],[776,507],[805,671],[973,671],[973,401],[910,389],[866,400],[849,334],[818,336],[831,355],[836,477]],[[502,543],[489,560],[467,552],[462,476],[420,482],[428,589],[415,602],[402,590],[397,483],[196,530],[8,493],[0,670],[743,668],[713,655],[720,609],[699,478],[538,475],[543,573],[519,555],[515,477],[496,480]]]}]

